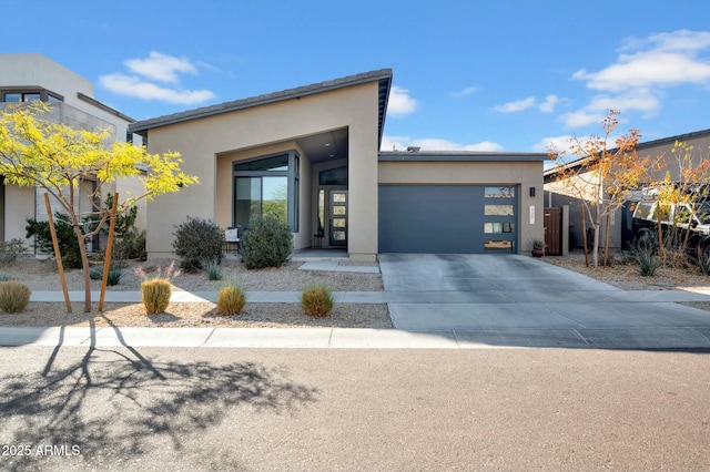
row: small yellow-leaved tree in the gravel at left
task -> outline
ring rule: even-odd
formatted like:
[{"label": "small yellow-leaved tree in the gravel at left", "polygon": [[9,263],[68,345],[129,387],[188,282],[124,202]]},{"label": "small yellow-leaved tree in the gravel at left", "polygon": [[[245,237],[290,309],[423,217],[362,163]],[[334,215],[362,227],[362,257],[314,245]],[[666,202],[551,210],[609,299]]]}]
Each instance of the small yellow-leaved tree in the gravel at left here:
[{"label": "small yellow-leaved tree in the gravel at left", "polygon": [[[103,208],[100,194],[103,185],[119,178],[138,176],[144,193],[132,196],[119,206],[125,213],[141,198],[178,192],[197,183],[197,178],[180,170],[180,153],[149,154],[144,147],[111,142],[108,129],[77,130],[44,117],[49,105],[40,101],[13,105],[0,114],[0,175],[7,183],[40,187],[52,196],[67,214],[79,243],[84,271],[84,310],[91,311],[91,280],[85,238],[98,234],[111,215]],[[82,182],[95,183],[89,197],[91,209],[80,212],[75,198]],[[82,225],[95,217],[91,227]]]}]

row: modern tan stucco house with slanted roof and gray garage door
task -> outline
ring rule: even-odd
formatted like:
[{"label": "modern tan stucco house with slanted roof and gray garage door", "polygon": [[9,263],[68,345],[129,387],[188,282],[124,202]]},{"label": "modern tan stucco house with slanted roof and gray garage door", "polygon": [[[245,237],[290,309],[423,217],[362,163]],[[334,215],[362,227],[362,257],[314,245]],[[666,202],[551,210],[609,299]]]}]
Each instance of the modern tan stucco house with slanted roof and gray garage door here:
[{"label": "modern tan stucco house with slanted roof and gray garage door", "polygon": [[294,248],[519,253],[541,238],[545,154],[379,152],[388,69],[132,123],[151,153],[179,151],[200,185],[148,204],[149,257],[187,216],[221,227],[274,214]]}]

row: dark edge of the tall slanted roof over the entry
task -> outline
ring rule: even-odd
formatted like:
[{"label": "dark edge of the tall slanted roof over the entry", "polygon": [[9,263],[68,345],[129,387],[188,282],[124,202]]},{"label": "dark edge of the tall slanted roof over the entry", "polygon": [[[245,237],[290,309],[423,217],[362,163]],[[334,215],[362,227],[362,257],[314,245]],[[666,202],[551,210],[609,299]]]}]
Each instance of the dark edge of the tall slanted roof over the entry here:
[{"label": "dark edge of the tall slanted roof over the entry", "polygon": [[384,129],[384,114],[386,103],[383,104],[383,86],[386,88],[384,99],[389,96],[389,84],[392,82],[392,69],[381,69],[378,71],[364,72],[355,75],[348,75],[342,79],[320,82],[311,85],[287,89],[278,92],[267,93],[263,95],[252,96],[248,99],[224,102],[216,105],[203,106],[200,109],[189,110],[186,112],[173,113],[165,116],[159,116],[144,121],[139,121],[129,126],[129,131],[133,133],[144,133],[153,127],[166,126],[170,124],[181,123],[189,120],[195,120],[206,116],[213,116],[222,113],[234,112],[253,106],[265,105],[268,103],[282,102],[285,100],[298,99],[301,96],[314,95],[316,93],[328,92],[346,86],[359,85],[373,81],[379,81],[379,134],[382,138],[382,130]]}]

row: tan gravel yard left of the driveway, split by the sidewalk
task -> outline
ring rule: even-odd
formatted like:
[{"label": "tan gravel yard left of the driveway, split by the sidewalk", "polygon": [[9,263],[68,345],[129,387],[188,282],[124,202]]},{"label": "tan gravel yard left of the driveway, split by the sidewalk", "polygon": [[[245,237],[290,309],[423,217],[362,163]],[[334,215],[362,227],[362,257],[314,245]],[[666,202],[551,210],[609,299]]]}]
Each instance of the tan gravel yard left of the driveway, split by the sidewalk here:
[{"label": "tan gravel yard left of the driveway, split by the sidewalk", "polygon": [[[143,268],[149,276],[163,273],[170,260],[131,263],[125,268],[121,283],[109,287],[110,291],[140,291],[141,278],[134,273]],[[173,279],[173,290],[219,291],[227,283],[233,283],[245,291],[301,291],[313,285],[326,285],[334,291],[379,291],[383,290],[379,274],[346,271],[298,270],[300,261],[291,261],[280,268],[246,270],[236,260],[225,260],[221,265],[222,280],[209,280],[204,273],[181,274]],[[347,265],[357,265],[347,261]],[[372,266],[372,264],[363,264]],[[376,266],[376,264],[375,264]],[[61,291],[57,265],[53,260],[26,259],[0,267],[0,271],[22,280],[32,290]],[[81,270],[67,271],[70,290],[83,290]],[[100,280],[91,280],[92,290],[101,289]],[[0,312],[0,326],[87,326],[97,327],[244,327],[244,328],[392,328],[392,320],[384,304],[336,304],[331,314],[323,318],[303,314],[298,304],[246,304],[240,315],[222,316],[212,302],[170,304],[162,315],[146,315],[142,304],[106,304],[103,314],[97,312],[98,299],[93,300],[93,312],[83,312],[83,302],[72,304],[72,314],[67,312],[63,302],[31,302],[21,314]]]}]

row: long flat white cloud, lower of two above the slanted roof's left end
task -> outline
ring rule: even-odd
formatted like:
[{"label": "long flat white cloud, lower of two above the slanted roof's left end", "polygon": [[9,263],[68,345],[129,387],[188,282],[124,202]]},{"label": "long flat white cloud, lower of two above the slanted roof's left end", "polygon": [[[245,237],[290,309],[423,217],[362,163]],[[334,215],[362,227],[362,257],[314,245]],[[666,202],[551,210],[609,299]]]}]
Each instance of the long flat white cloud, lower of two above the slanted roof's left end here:
[{"label": "long flat white cloud, lower of two above the slanted roof's left end", "polygon": [[176,90],[166,89],[151,82],[143,82],[136,76],[120,73],[102,75],[99,84],[120,95],[135,96],[143,100],[158,100],[168,103],[192,105],[214,99],[209,90]]}]

